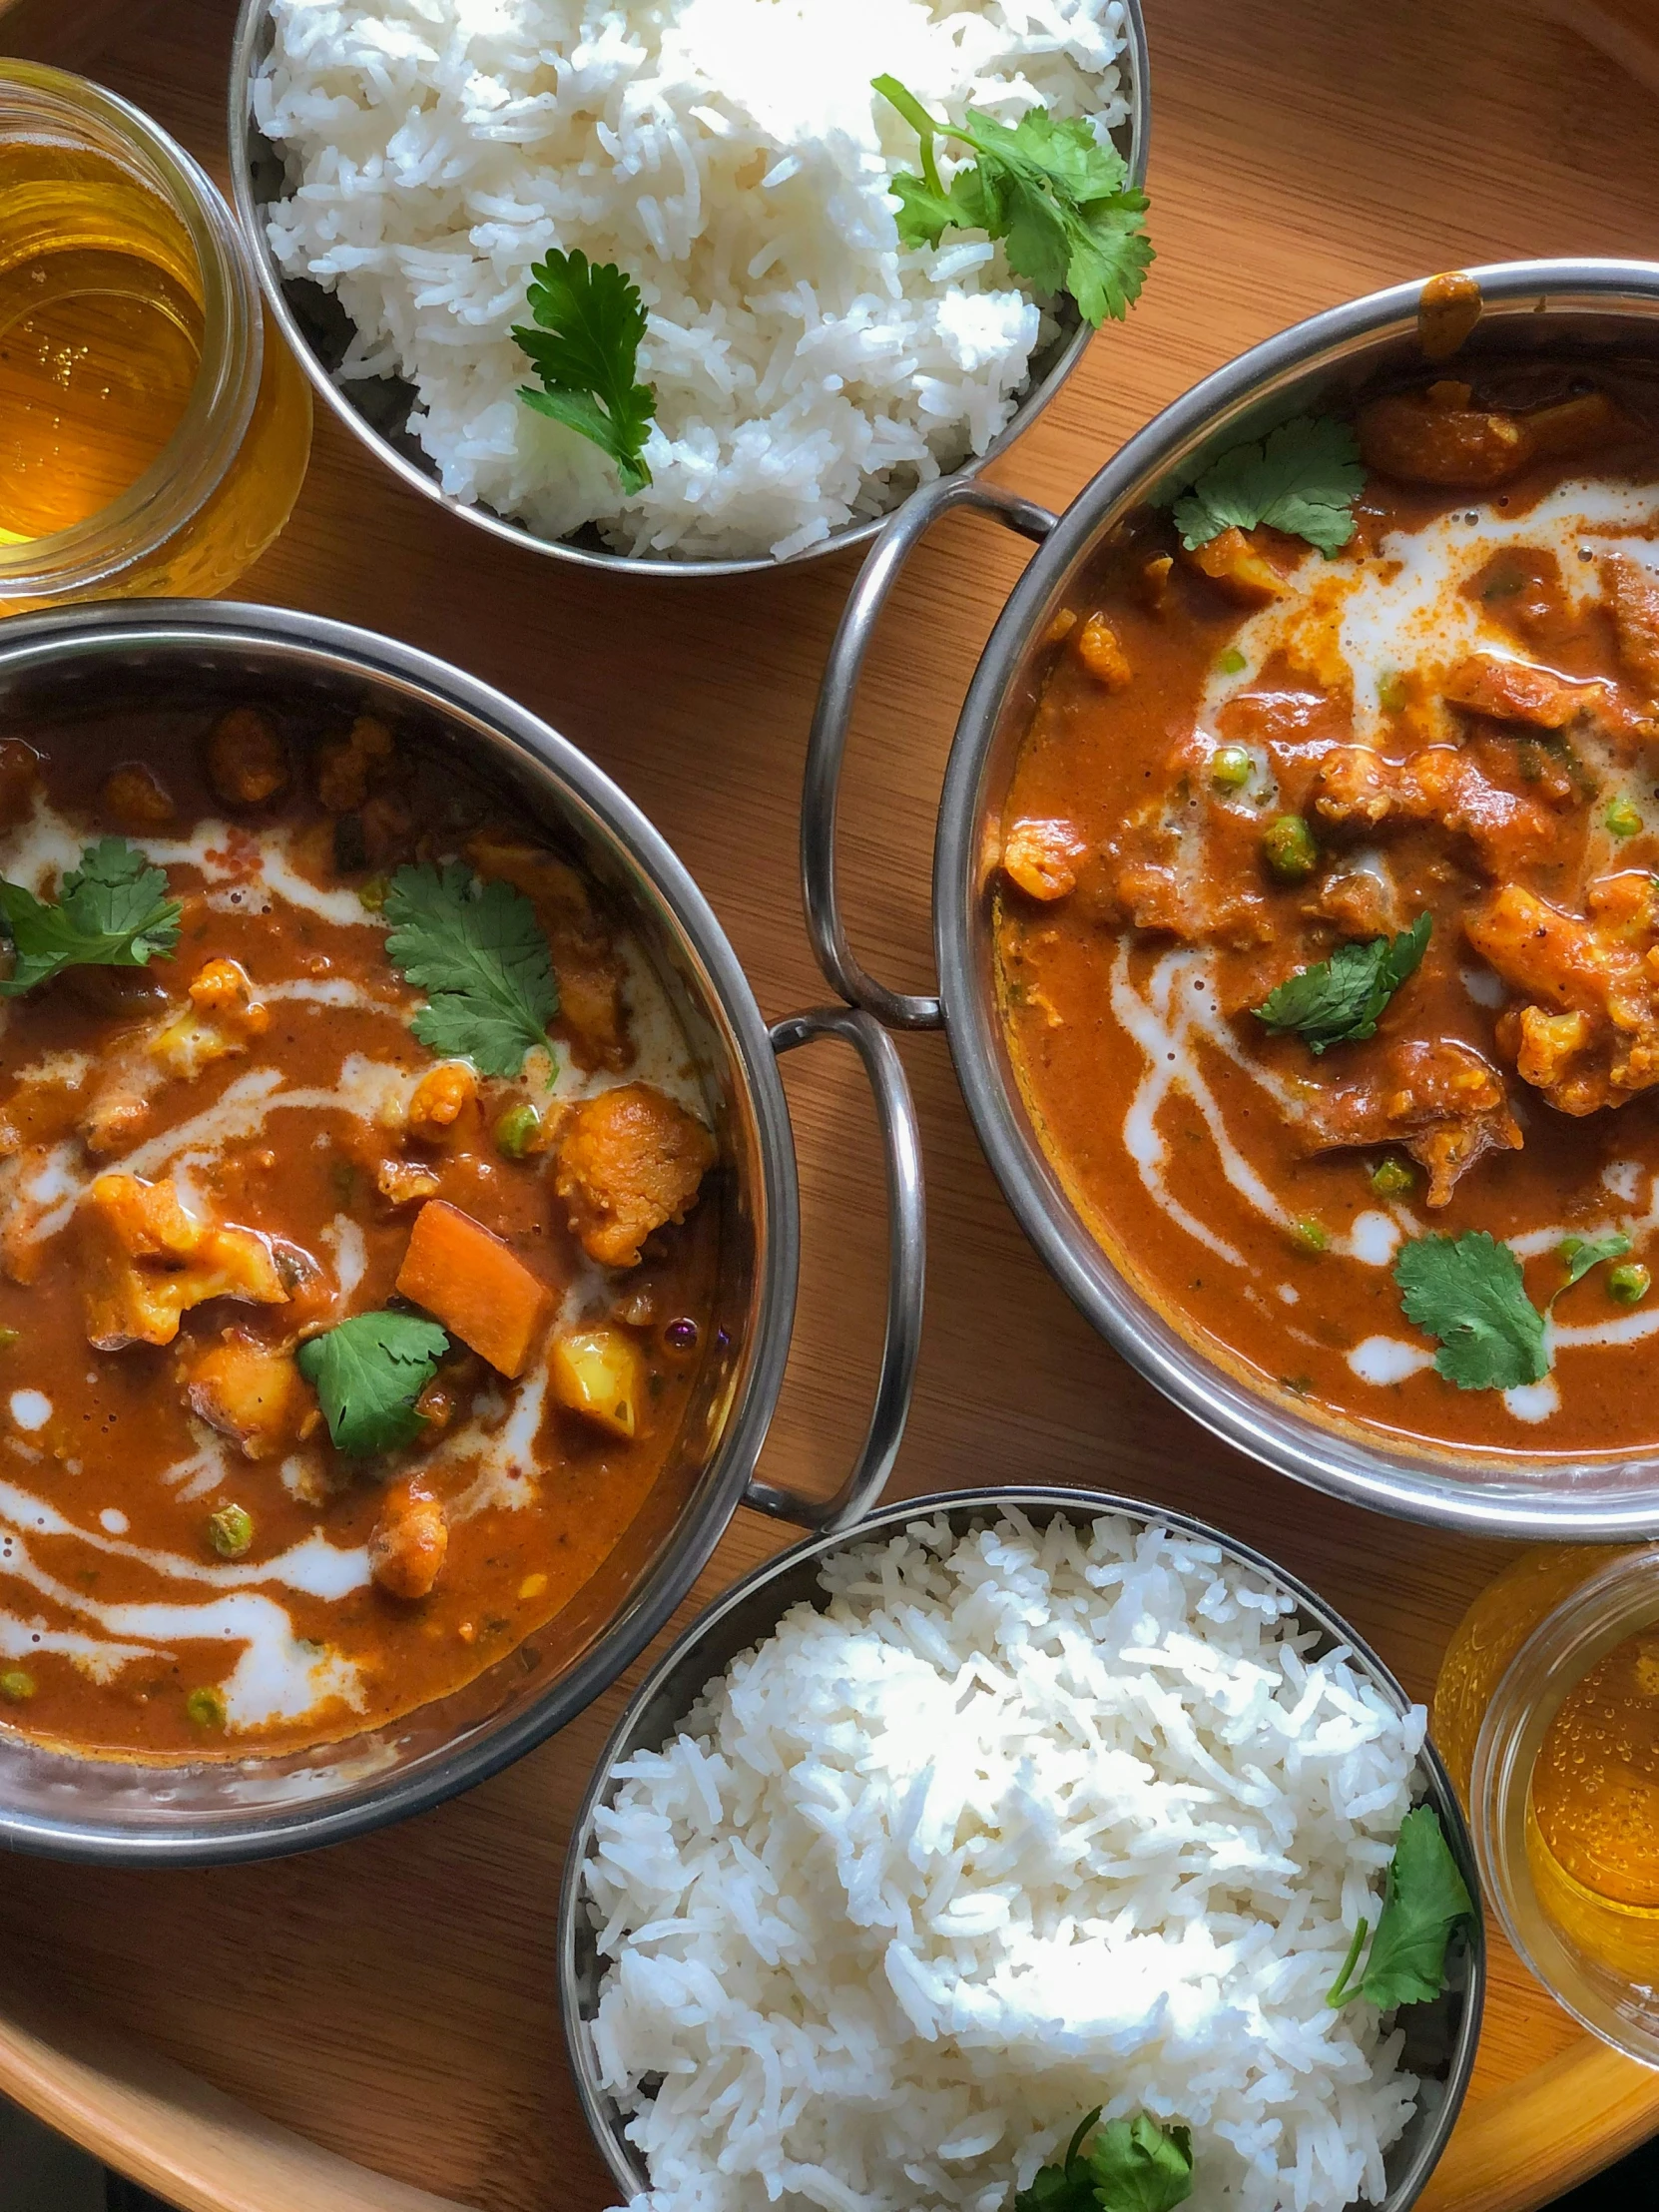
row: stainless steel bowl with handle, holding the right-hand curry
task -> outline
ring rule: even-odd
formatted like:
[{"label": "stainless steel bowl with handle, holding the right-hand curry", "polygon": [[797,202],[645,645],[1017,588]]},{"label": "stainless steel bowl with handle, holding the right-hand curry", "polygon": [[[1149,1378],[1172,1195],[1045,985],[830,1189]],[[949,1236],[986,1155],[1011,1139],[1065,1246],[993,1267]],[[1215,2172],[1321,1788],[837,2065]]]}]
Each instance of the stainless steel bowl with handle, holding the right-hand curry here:
[{"label": "stainless steel bowl with handle, holding the right-hand curry", "polygon": [[[1478,268],[1484,312],[1458,358],[1626,354],[1659,361],[1659,263],[1511,261]],[[1484,1535],[1593,1542],[1659,1528],[1659,1458],[1568,1458],[1389,1442],[1267,1398],[1197,1349],[1102,1250],[1071,1203],[1020,1097],[995,1004],[991,872],[995,823],[1035,706],[1042,635],[1106,533],[1159,487],[1175,489],[1241,438],[1327,407],[1378,376],[1422,367],[1422,283],[1332,307],[1206,376],[1099,471],[1064,515],[993,484],[931,484],[889,522],[841,619],[807,754],[801,867],[825,975],[894,1029],[945,1029],[980,1144],[1022,1228],[1095,1327],[1206,1429],[1336,1498]],[[836,898],[836,796],[863,666],[905,560],[951,507],[973,507],[1040,551],[1015,584],[956,726],[933,845],[938,995],[889,991],[847,942]]]}]

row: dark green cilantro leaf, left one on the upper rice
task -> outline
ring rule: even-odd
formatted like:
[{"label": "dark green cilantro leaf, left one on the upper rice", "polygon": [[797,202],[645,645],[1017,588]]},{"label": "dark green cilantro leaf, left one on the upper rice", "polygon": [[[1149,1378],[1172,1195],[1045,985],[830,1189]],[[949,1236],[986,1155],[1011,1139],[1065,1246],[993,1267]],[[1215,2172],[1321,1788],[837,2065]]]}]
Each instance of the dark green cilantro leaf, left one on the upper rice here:
[{"label": "dark green cilantro leaf, left one on the upper rice", "polygon": [[644,453],[657,414],[657,387],[635,383],[646,334],[639,285],[615,261],[555,250],[531,270],[529,310],[538,327],[513,336],[542,389],[522,385],[518,396],[608,453],[633,498],[650,482]]}]

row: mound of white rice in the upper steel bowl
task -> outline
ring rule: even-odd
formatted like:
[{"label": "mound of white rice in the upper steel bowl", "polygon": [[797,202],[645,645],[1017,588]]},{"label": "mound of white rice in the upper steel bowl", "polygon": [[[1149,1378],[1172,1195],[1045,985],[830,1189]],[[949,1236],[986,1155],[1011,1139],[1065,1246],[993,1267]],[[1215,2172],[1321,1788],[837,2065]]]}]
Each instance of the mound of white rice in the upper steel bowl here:
[{"label": "mound of white rice in the upper steel bowl", "polygon": [[[635,553],[779,557],[982,453],[1044,321],[1002,248],[900,252],[887,179],[938,113],[1121,122],[1121,0],[274,0],[270,239],[336,292],[343,378],[416,385],[445,491]],[[945,150],[945,148],[942,148]],[[958,148],[962,153],[962,148]],[[945,159],[945,173],[951,164]],[[639,283],[653,484],[513,394],[531,263]],[[1051,327],[1051,325],[1048,325]]]}]

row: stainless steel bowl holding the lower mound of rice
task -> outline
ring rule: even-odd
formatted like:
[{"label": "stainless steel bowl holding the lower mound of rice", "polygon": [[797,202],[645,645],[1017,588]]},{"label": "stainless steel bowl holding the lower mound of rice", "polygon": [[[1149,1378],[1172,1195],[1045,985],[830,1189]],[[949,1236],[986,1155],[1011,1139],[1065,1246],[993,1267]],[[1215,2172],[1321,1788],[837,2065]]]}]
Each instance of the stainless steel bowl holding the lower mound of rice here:
[{"label": "stainless steel bowl holding the lower mound of rice", "polygon": [[[1354,1635],[1347,1621],[1332,1613],[1303,1582],[1287,1575],[1283,1566],[1276,1566],[1248,1544],[1234,1542],[1219,1528],[1210,1528],[1206,1522],[1192,1520],[1186,1513],[1168,1513],[1135,1498],[1055,1486],[947,1491],[936,1498],[907,1498],[900,1504],[883,1506],[880,1513],[872,1513],[852,1535],[821,1535],[770,1559],[699,1615],[633,1694],[628,1710],[617,1721],[593,1770],[588,1794],[582,1801],[582,1812],[571,1834],[571,1851],[564,1860],[564,1887],[560,1891],[560,2013],[564,2017],[564,2039],[582,2110],[617,2188],[624,2192],[624,2201],[644,2197],[650,2188],[650,2177],[646,2174],[644,2159],[626,2137],[624,2112],[599,2086],[591,2022],[599,2004],[604,1960],[599,1958],[595,1929],[582,1893],[582,1869],[593,1851],[593,1818],[599,1805],[606,1805],[613,1796],[611,1772],[615,1763],[635,1752],[661,1750],[697,1703],[703,1686],[723,1672],[739,1652],[772,1635],[790,1606],[805,1601],[823,1608],[827,1599],[818,1586],[818,1568],[830,1551],[889,1535],[909,1522],[931,1520],[940,1513],[956,1535],[967,1535],[1011,1506],[1040,1526],[1046,1526],[1055,1515],[1097,1520],[1102,1513],[1121,1513],[1141,1526],[1179,1528],[1186,1535],[1203,1537],[1208,1544],[1219,1546],[1228,1564],[1250,1568],[1287,1590],[1296,1601],[1301,1626],[1314,1630],[1318,1637],[1318,1652],[1327,1652],[1336,1644],[1347,1646],[1356,1663],[1365,1668],[1396,1712],[1405,1712],[1411,1703],[1394,1674]],[[1422,1750],[1420,1778],[1418,1801],[1433,1805],[1438,1812],[1462,1878],[1469,1885],[1469,1896],[1480,1900],[1475,1854],[1462,1807],[1440,1763],[1440,1754],[1431,1745]],[[1486,1940],[1480,1907],[1475,1907],[1475,1924],[1453,1938],[1444,1995],[1436,2004],[1411,2006],[1400,2015],[1400,2024],[1407,2031],[1405,2064],[1411,2073],[1433,2084],[1433,2088],[1431,2095],[1420,2099],[1411,2124],[1385,2159],[1389,2188],[1378,2212],[1407,2212],[1407,2205],[1416,2203],[1440,2152],[1447,2148],[1447,2137],[1469,2086],[1486,1993]]]}]

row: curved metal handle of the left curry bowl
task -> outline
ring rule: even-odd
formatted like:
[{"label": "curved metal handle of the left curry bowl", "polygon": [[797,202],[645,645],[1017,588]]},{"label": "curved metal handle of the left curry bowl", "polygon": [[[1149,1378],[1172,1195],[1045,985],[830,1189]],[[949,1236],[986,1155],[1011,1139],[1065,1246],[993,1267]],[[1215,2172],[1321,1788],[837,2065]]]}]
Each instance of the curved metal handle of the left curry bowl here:
[{"label": "curved metal handle of the left curry bowl", "polygon": [[898,1046],[887,1031],[856,1006],[812,1006],[772,1026],[772,1051],[783,1057],[799,1044],[841,1037],[865,1064],[876,1099],[883,1166],[887,1170],[887,1327],[876,1374],[876,1402],[852,1473],[834,1498],[801,1498],[774,1482],[752,1480],[743,1504],[774,1520],[796,1522],[834,1535],[852,1528],[876,1504],[894,1471],[916,1385],[916,1352],[922,1340],[922,1287],[927,1276],[927,1210],[922,1201],[922,1133],[909,1095]]}]

